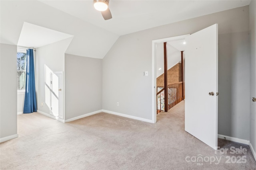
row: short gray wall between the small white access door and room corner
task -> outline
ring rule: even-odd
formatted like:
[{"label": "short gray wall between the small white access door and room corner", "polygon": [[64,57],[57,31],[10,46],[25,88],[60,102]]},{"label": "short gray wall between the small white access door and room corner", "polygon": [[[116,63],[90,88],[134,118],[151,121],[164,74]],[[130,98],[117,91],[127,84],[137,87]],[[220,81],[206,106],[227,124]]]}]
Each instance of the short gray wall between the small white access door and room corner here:
[{"label": "short gray wall between the small white access door and room corner", "polygon": [[65,119],[102,109],[102,59],[65,54]]}]

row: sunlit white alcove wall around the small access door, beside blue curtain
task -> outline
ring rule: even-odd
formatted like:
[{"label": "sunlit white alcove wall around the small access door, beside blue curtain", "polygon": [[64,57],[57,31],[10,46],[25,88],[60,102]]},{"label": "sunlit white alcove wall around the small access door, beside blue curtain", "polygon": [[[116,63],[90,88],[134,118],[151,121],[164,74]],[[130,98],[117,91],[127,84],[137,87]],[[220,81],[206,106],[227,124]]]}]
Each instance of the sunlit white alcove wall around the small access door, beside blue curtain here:
[{"label": "sunlit white alcove wall around the small access door, beside blue curtain", "polygon": [[[73,37],[36,49],[36,93],[37,109],[50,114],[49,83],[50,72],[63,71],[65,51]],[[65,73],[64,73],[65,74]],[[41,103],[44,102],[44,106]]]}]

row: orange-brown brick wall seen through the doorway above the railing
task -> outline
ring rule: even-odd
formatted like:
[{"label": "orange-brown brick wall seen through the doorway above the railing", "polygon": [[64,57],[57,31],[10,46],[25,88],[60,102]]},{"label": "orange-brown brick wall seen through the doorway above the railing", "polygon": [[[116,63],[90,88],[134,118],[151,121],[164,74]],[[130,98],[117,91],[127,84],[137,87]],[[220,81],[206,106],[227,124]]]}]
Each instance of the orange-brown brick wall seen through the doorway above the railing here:
[{"label": "orange-brown brick wall seen through the doorway above the railing", "polygon": [[[168,84],[181,82],[181,63],[176,64],[167,72]],[[164,74],[156,78],[156,86],[164,87]]]}]

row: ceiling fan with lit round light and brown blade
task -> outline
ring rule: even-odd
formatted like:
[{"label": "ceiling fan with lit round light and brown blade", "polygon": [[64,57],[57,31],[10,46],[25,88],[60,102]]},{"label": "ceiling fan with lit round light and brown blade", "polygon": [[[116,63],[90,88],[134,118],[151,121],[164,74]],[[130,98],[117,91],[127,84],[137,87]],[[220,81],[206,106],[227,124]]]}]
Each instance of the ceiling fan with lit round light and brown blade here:
[{"label": "ceiling fan with lit round light and brown blade", "polygon": [[109,0],[93,0],[94,8],[101,12],[104,20],[112,18],[111,12],[108,8]]}]

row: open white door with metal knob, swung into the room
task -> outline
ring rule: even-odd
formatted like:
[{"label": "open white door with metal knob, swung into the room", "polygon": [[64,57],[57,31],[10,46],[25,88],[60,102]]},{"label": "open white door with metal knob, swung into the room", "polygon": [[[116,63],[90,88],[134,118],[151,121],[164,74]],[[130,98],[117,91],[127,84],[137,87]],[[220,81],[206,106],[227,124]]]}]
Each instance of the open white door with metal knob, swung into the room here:
[{"label": "open white door with metal knob, swung into the room", "polygon": [[185,131],[217,149],[218,24],[185,40]]}]

